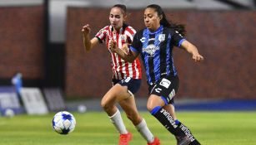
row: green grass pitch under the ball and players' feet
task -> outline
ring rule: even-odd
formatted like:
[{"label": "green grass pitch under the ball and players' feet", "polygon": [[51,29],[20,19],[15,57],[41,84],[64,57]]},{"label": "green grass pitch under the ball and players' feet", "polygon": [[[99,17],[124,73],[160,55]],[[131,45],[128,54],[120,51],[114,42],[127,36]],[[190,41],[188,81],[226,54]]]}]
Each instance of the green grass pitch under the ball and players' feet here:
[{"label": "green grass pitch under the ball and players' feet", "polygon": [[[118,133],[103,112],[73,113],[77,126],[68,135],[53,131],[53,115],[0,117],[0,145],[118,144]],[[133,124],[122,115],[133,133],[130,145],[146,145]],[[141,115],[162,145],[176,145],[173,135],[153,116],[148,112],[141,112]],[[203,145],[256,145],[256,112],[178,112],[177,115]]]}]

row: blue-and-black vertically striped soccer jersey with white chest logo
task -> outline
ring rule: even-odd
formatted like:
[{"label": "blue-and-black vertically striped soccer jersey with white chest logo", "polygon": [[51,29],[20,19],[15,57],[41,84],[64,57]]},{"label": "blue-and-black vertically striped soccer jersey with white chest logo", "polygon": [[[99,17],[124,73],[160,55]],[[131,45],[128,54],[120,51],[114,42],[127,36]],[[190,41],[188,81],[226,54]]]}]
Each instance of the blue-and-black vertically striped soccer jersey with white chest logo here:
[{"label": "blue-and-black vertically striped soccer jersey with white chest logo", "polygon": [[148,84],[165,75],[177,75],[173,65],[173,46],[179,47],[184,40],[178,31],[163,26],[157,31],[146,28],[135,34],[130,49],[141,54]]}]

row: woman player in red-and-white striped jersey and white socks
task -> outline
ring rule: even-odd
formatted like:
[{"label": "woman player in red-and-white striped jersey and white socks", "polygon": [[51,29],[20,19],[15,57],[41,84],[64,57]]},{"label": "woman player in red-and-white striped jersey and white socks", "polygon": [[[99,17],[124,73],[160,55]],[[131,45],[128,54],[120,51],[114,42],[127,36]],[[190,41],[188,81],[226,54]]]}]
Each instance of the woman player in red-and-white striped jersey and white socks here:
[{"label": "woman player in red-and-white striped jersey and white socks", "polygon": [[[117,41],[118,48],[122,48],[123,44],[131,44],[136,31],[124,23],[126,17],[126,7],[121,4],[114,5],[109,13],[110,25],[98,31],[93,39],[89,38],[91,28],[88,24],[85,25],[82,32],[83,46],[86,51],[90,51],[93,46],[103,42],[106,43],[108,51],[110,41]],[[133,94],[138,91],[142,78],[139,60],[128,62],[121,59],[116,53],[109,52],[112,58],[113,87],[103,96],[101,105],[120,133],[119,145],[128,145],[132,134],[125,128],[116,103],[120,104],[138,132],[147,140],[148,145],[160,144],[158,138],[154,138],[148,129],[145,120],[138,114],[135,104]]]}]

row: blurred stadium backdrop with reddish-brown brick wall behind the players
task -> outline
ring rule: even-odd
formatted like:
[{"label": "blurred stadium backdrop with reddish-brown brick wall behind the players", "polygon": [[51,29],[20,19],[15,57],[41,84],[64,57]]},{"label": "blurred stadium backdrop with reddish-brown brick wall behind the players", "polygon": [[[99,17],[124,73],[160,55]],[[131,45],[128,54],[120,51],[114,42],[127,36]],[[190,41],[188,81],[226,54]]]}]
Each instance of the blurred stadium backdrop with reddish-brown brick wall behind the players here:
[{"label": "blurred stadium backdrop with reddish-brown brick wall behind the players", "polygon": [[[66,107],[100,108],[111,87],[110,58],[103,45],[85,53],[81,28],[90,24],[94,36],[117,3],[127,5],[128,23],[137,30],[144,7],[160,5],[169,20],[186,25],[186,37],[205,57],[197,65],[174,50],[178,109],[256,110],[254,0],[0,0],[0,93],[13,92],[11,79],[20,72],[23,87],[38,88],[44,99],[57,94]],[[143,78],[136,95],[140,109],[147,97]],[[0,100],[3,108],[6,101]]]}]

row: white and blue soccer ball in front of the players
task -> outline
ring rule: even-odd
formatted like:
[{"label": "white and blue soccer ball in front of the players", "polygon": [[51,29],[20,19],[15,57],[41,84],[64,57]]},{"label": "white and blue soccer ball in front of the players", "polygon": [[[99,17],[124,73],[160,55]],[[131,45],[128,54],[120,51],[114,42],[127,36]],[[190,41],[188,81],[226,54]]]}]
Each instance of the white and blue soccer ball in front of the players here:
[{"label": "white and blue soccer ball in front of the players", "polygon": [[53,117],[53,130],[60,134],[68,134],[73,132],[76,127],[76,119],[73,114],[67,111],[61,111]]}]

